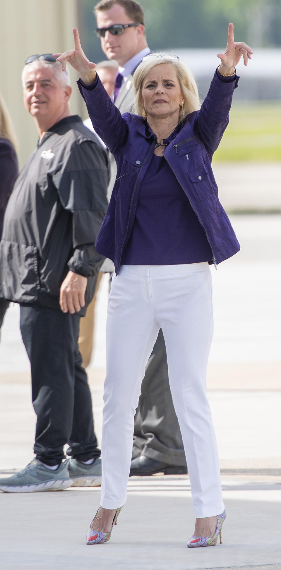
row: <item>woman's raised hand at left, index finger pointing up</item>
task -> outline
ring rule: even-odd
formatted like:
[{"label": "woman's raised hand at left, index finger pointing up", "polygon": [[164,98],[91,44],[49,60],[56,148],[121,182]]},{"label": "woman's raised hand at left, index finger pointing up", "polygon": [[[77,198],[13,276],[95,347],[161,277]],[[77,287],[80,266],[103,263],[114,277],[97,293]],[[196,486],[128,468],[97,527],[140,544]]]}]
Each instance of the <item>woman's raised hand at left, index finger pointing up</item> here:
[{"label": "woman's raised hand at left, index finger pointing up", "polygon": [[52,54],[58,62],[62,62],[62,70],[66,70],[66,62],[69,62],[76,71],[80,73],[80,78],[85,85],[91,85],[96,80],[95,63],[89,62],[82,50],[78,29],[74,28],[74,50],[65,51],[63,54]]}]

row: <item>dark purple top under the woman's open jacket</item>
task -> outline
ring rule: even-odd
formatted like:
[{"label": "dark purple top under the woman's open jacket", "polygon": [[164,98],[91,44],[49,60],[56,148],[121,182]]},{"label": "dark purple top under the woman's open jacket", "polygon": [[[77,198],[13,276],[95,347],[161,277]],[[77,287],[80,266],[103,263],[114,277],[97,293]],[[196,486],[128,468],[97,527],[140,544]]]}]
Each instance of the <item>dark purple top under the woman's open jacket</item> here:
[{"label": "dark purple top under the woman's open jacket", "polygon": [[205,230],[173,170],[153,154],[142,181],[131,237],[121,263],[174,265],[211,263]]}]

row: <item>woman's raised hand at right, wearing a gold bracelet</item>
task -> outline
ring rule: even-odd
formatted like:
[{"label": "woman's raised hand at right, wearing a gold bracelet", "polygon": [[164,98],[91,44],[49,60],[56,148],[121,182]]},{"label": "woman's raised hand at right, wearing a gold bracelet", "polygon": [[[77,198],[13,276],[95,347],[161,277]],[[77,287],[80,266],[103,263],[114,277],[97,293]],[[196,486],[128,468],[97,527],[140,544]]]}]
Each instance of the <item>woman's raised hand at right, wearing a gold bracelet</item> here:
[{"label": "woman's raised hand at right, wearing a gold bracelet", "polygon": [[253,50],[245,42],[234,42],[233,34],[233,24],[229,24],[229,33],[227,36],[227,46],[224,54],[218,54],[218,58],[221,59],[221,64],[219,65],[219,71],[222,74],[232,75],[235,70],[234,67],[239,63],[241,56],[243,55],[244,65],[248,63],[248,59],[251,59]]}]

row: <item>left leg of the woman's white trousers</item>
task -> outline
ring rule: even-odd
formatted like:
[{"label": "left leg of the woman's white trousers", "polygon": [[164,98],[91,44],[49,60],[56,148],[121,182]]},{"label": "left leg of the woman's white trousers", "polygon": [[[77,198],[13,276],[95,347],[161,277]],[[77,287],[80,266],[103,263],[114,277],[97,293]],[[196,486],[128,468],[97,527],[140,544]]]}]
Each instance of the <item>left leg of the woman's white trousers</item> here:
[{"label": "left leg of the woman's white trousers", "polygon": [[[107,376],[101,443],[101,506],[104,508],[120,507],[126,500],[135,410],[145,365],[159,329],[149,296],[147,279],[131,274],[124,276],[121,270],[112,280],[106,327]],[[136,299],[141,300],[138,306]]]}]

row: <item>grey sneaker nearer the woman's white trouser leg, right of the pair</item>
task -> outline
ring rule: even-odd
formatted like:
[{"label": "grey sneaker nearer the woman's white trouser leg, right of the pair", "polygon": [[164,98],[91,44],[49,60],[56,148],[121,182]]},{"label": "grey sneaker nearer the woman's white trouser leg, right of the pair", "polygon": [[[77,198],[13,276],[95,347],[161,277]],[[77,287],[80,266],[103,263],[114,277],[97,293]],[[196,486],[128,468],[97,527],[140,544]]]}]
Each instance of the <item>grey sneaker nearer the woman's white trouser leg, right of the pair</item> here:
[{"label": "grey sneaker nearer the woman's white trouser leg, right of the pair", "polygon": [[66,459],[72,487],[99,487],[101,485],[101,459],[97,457],[91,465],[85,465],[78,459]]}]

